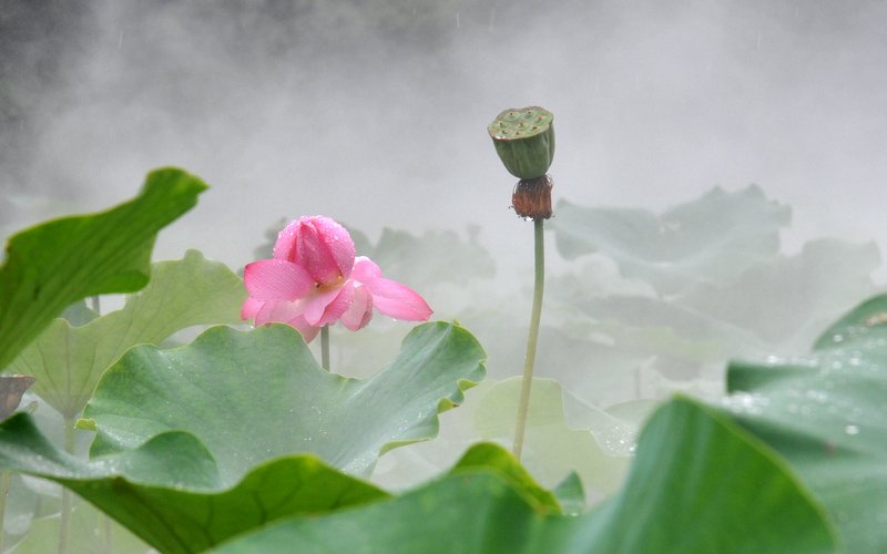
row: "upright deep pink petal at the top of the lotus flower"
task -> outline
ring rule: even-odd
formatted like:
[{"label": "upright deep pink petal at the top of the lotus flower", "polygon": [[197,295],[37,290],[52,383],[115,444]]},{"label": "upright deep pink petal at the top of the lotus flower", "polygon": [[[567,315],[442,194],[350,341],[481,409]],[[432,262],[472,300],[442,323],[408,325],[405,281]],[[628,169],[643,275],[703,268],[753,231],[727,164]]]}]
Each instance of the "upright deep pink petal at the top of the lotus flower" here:
[{"label": "upright deep pink petal at the top of the lotus flower", "polygon": [[317,283],[335,285],[347,279],[354,267],[354,242],[345,227],[324,216],[303,217],[299,222],[294,261]]}]

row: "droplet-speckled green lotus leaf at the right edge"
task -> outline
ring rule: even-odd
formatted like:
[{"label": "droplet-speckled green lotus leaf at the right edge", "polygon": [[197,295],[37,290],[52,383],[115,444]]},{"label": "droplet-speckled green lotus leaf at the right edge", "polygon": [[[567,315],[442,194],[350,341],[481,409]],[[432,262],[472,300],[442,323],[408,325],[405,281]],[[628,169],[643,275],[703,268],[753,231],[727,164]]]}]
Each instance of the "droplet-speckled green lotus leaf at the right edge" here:
[{"label": "droplet-speckled green lotus leaf at the right edge", "polygon": [[828,509],[847,552],[887,545],[887,296],[844,316],[806,357],[734,362],[727,406]]}]

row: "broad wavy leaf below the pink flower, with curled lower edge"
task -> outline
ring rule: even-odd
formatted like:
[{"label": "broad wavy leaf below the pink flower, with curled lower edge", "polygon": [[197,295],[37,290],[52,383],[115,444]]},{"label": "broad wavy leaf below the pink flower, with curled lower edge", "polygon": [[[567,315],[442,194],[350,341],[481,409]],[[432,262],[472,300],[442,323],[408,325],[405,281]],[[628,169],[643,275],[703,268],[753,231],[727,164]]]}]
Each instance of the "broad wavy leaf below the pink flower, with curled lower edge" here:
[{"label": "broad wavy leaf below the pink flower, with curled lower edge", "polygon": [[91,461],[18,414],[0,428],[0,464],[64,484],[164,552],[195,552],[283,515],[385,496],[320,460],[368,471],[385,450],[432,437],[438,411],[483,376],[483,351],[453,325],[419,326],[365,381],[324,371],[300,337],[215,327],[186,347],[135,347],[84,411],[98,432]]}]

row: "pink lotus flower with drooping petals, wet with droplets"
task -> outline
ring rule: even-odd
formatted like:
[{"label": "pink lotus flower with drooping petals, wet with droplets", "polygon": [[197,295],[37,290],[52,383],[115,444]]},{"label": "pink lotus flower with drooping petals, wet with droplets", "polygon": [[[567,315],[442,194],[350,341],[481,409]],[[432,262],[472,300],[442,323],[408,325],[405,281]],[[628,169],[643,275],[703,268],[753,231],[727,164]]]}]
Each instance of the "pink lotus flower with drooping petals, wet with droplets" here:
[{"label": "pink lotus flower with drooping petals, wet with droplets", "polygon": [[246,266],[249,297],[241,317],[255,325],[289,324],[310,341],[336,321],[356,331],[373,309],[408,321],[425,321],[431,309],[415,290],[381,276],[369,258],[355,258],[348,232],[329,217],[302,217],[277,235],[274,258]]}]

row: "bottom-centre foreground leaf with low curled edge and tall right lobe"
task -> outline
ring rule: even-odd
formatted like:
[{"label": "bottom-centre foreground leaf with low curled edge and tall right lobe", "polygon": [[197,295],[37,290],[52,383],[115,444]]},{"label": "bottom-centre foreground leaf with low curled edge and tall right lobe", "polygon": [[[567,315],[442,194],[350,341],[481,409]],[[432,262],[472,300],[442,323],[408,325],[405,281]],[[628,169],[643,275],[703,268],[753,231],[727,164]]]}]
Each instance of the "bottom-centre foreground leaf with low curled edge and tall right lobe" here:
[{"label": "bottom-centre foreground leaf with low curled edge and tall right lobe", "polygon": [[213,552],[835,552],[822,507],[723,412],[677,398],[645,428],[626,486],[580,516],[552,513],[501,471],[453,472],[395,499],[295,516]]}]

